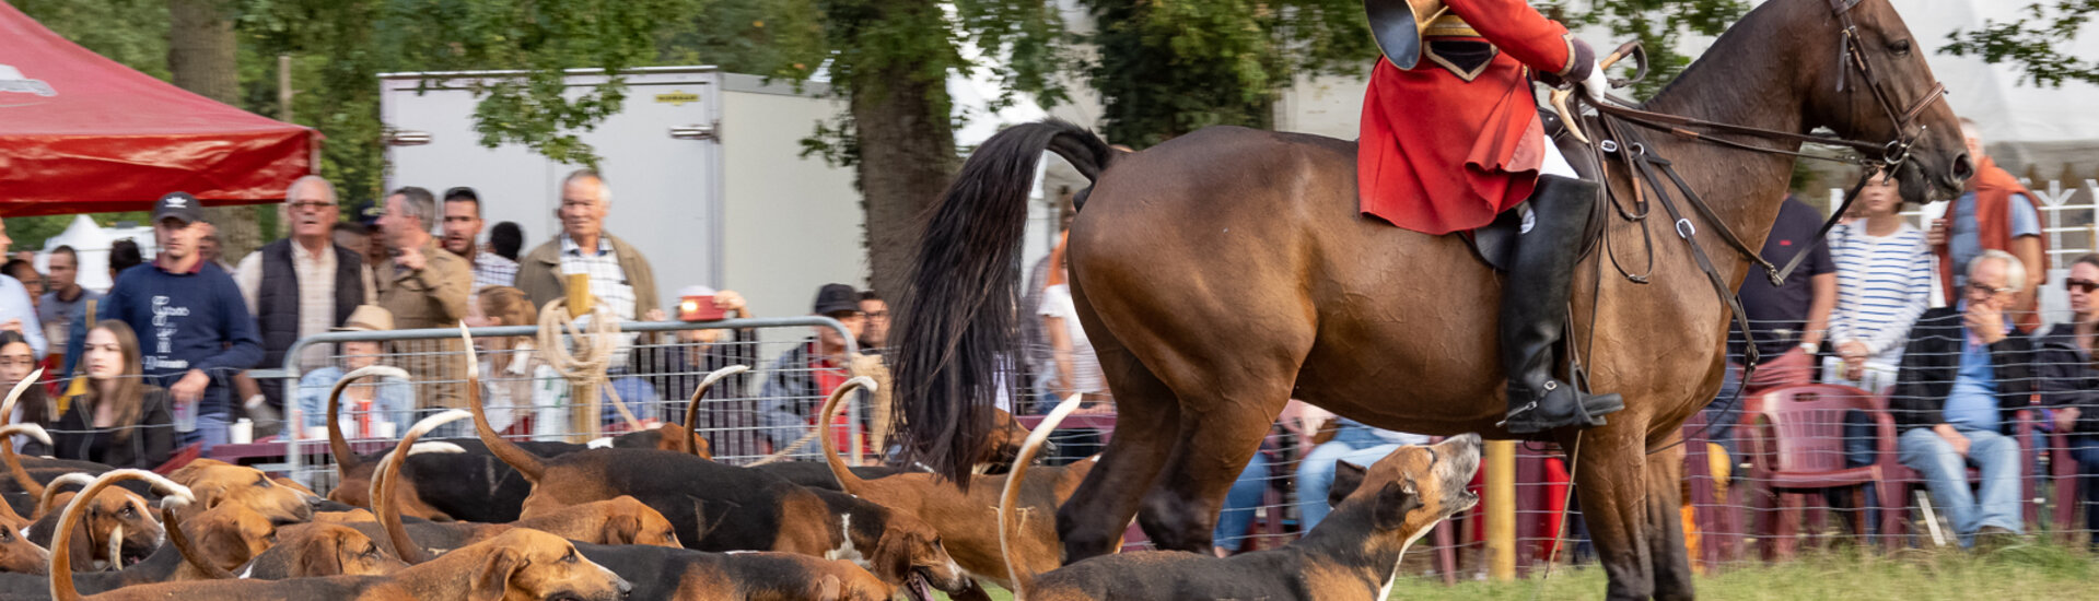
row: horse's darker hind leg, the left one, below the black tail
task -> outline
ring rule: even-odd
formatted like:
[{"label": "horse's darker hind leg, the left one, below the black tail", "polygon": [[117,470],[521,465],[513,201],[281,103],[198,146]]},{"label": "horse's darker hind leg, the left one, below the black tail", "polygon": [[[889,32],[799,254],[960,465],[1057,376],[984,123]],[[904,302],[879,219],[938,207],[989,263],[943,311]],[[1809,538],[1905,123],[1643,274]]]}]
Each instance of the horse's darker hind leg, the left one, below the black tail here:
[{"label": "horse's darker hind leg, the left one, below the black tail", "polygon": [[1121,547],[1138,500],[1152,488],[1173,440],[1180,438],[1180,400],[1127,350],[1098,343],[1102,373],[1115,392],[1115,436],[1100,463],[1085,473],[1070,500],[1058,509],[1064,563],[1108,555]]}]

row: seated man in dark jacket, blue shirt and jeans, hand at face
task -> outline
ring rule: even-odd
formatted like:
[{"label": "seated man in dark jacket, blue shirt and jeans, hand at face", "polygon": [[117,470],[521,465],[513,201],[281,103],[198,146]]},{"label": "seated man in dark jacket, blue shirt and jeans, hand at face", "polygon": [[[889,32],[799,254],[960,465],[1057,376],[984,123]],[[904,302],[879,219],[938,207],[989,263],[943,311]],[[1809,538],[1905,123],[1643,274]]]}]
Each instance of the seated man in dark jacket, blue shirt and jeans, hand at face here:
[{"label": "seated man in dark jacket, blue shirt and jeans, hand at face", "polygon": [[[1960,302],[1925,312],[1902,352],[1889,413],[1902,465],[1916,469],[1960,547],[1977,534],[2011,542],[2019,534],[2019,442],[2013,413],[2034,394],[2032,339],[2007,310],[2026,283],[2017,255],[1988,249],[1967,264]],[[1967,469],[1981,471],[1969,492]]]}]

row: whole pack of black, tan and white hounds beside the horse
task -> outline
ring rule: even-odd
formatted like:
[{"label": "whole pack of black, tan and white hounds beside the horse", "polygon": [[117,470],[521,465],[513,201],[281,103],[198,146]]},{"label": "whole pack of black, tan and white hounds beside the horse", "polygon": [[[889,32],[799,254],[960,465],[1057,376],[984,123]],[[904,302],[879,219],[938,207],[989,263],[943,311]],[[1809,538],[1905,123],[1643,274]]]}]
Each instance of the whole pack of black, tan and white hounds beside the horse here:
[{"label": "whole pack of black, tan and white hounds beside the horse", "polygon": [[[707,442],[678,425],[609,444],[512,442],[481,413],[472,352],[466,364],[470,410],[432,415],[390,450],[357,454],[330,425],[340,486],[325,498],[210,459],[157,475],[0,444],[0,601],[930,601],[934,591],[963,601],[991,599],[984,584],[1014,599],[1383,599],[1406,547],[1478,503],[1465,482],[1480,440],[1459,436],[1341,465],[1335,513],[1282,549],[1062,565],[1054,515],[1094,461],[1029,463],[1077,402],[1033,433],[1010,423],[987,454],[1010,471],[980,469],[957,486],[850,467],[833,436],[819,436],[825,463],[756,467],[712,461]],[[737,371],[709,375],[693,398]],[[378,373],[388,369],[348,373],[327,415],[348,383]],[[838,387],[825,417],[873,385]],[[479,438],[420,442],[460,419]],[[13,436],[48,440],[34,423],[0,423],[0,438]]]}]

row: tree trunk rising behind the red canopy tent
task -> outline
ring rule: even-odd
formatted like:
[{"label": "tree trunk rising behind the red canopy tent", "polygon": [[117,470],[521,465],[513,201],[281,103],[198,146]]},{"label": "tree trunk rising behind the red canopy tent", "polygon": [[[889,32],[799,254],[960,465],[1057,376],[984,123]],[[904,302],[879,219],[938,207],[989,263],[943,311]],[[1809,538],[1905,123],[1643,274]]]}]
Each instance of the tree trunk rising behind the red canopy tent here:
[{"label": "tree trunk rising behind the red canopy tent", "polygon": [[[168,73],[183,90],[235,105],[241,82],[229,8],[225,0],[168,0]],[[218,247],[227,262],[237,262],[262,245],[254,207],[206,207],[204,218],[218,228]]]}]

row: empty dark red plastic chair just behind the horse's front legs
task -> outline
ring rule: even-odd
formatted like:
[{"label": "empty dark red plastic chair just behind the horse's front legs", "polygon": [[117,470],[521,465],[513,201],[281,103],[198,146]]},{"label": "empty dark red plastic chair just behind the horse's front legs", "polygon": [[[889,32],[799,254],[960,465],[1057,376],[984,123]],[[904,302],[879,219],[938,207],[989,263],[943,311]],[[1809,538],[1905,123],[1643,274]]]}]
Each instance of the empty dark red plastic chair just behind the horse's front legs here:
[{"label": "empty dark red plastic chair just behind the horse's front legs", "polygon": [[[1765,392],[1759,406],[1742,425],[1742,452],[1748,459],[1748,477],[1755,486],[1751,503],[1757,509],[1761,528],[1757,532],[1772,540],[1763,549],[1765,559],[1793,555],[1807,494],[1828,488],[1856,488],[1858,507],[1866,507],[1866,486],[1881,488],[1887,505],[1900,498],[1893,482],[1895,469],[1895,421],[1887,415],[1883,400],[1870,392],[1849,385],[1788,385]],[[1866,413],[1874,423],[1874,463],[1845,467],[1845,415]],[[1881,532],[1895,532],[1895,513],[1881,507]],[[1866,536],[1866,519],[1858,519],[1858,534]],[[1895,538],[1887,538],[1893,544]]]}]

